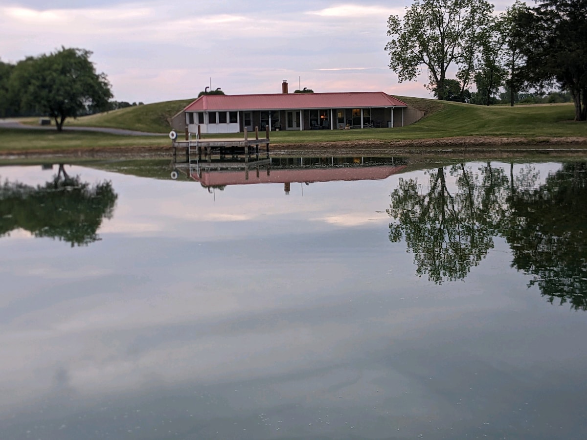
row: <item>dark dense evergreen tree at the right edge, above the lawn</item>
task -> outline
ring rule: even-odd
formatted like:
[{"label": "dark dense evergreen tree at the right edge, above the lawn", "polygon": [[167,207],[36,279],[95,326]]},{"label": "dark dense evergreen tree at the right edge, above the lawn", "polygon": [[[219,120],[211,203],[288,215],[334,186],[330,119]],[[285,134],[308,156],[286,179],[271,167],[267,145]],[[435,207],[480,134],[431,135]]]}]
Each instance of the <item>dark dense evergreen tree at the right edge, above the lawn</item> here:
[{"label": "dark dense evergreen tree at the right edge, above the lawn", "polygon": [[543,89],[556,82],[575,104],[575,120],[587,120],[587,0],[539,0],[518,15],[524,28],[529,82]]}]

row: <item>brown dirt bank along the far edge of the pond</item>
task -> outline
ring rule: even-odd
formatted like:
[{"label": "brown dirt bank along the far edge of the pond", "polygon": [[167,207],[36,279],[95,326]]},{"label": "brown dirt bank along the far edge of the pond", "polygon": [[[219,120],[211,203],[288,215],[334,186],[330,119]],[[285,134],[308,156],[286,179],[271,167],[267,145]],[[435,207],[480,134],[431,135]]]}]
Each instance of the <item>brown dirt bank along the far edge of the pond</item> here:
[{"label": "brown dirt bank along the far edge of the pond", "polygon": [[[564,154],[587,155],[587,137],[490,137],[467,136],[414,140],[362,140],[315,144],[274,144],[270,154],[285,155],[480,155]],[[0,151],[0,158],[103,158],[171,157],[170,147],[99,147],[68,150]]]}]

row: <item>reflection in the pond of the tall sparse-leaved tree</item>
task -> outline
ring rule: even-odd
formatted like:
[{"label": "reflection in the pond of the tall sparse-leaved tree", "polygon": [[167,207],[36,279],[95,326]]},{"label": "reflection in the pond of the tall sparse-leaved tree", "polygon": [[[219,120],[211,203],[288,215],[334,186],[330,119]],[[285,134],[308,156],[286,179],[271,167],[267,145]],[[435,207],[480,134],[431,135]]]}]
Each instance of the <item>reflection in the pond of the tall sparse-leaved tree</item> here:
[{"label": "reflection in the pond of the tall sparse-leaved tree", "polygon": [[404,236],[416,273],[428,275],[434,283],[463,279],[485,258],[493,247],[502,188],[507,184],[504,172],[490,165],[481,181],[464,164],[451,167],[449,176],[456,182],[454,191],[443,167],[430,172],[426,192],[416,179],[400,179],[387,209],[396,220],[389,225],[389,239],[399,242]]}]

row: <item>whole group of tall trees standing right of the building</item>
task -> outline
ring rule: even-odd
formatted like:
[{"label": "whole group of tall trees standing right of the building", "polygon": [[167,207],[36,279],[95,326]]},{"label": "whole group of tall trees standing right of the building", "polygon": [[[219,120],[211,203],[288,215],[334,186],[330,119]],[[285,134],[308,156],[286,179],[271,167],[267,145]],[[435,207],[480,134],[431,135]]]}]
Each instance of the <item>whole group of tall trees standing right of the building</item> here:
[{"label": "whole group of tall trees standing right of the building", "polygon": [[587,0],[517,0],[493,12],[487,0],[414,0],[387,21],[390,69],[400,82],[426,69],[435,97],[475,104],[513,106],[521,94],[557,87],[575,120],[587,120]]}]

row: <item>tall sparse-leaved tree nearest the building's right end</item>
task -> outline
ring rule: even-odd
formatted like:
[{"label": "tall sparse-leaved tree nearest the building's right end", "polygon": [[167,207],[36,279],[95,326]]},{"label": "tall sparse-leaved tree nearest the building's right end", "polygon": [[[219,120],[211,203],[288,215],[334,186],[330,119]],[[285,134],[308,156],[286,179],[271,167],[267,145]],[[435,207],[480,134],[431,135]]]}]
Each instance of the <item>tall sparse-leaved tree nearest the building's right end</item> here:
[{"label": "tall sparse-leaved tree nearest the building's right end", "polygon": [[399,82],[415,80],[426,66],[427,89],[446,99],[447,70],[458,66],[461,90],[467,89],[478,62],[493,6],[487,0],[416,0],[403,19],[390,15],[387,35],[393,37],[385,50],[389,68]]}]

